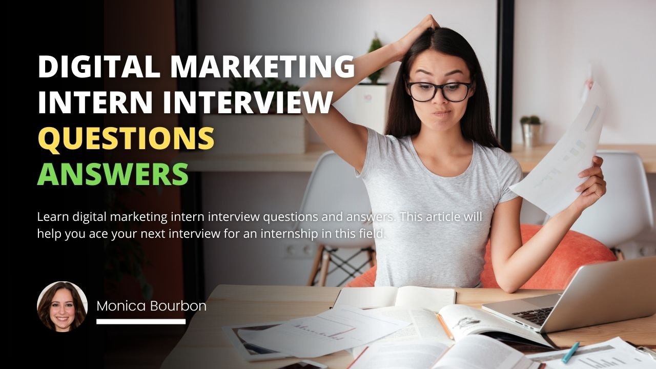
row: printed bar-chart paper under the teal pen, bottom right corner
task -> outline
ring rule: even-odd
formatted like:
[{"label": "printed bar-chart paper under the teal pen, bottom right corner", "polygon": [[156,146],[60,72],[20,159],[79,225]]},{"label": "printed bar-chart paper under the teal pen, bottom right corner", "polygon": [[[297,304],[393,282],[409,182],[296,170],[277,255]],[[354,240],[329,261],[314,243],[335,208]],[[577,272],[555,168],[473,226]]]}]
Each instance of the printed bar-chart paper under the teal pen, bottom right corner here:
[{"label": "printed bar-chart paper under the teal pen, bottom right corner", "polygon": [[567,364],[564,364],[561,359],[567,354],[567,351],[569,349],[527,355],[527,357],[533,361],[546,362],[547,368],[656,368],[656,360],[653,360],[649,355],[640,353],[620,337],[602,343],[595,343],[594,345],[579,347]]}]

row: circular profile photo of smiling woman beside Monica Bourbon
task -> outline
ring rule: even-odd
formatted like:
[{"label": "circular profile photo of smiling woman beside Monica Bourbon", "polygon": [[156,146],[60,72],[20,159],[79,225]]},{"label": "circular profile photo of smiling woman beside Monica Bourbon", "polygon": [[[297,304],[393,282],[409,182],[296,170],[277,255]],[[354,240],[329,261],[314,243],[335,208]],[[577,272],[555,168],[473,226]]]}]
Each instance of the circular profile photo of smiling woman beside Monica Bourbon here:
[{"label": "circular profile photo of smiling woman beside Monica Bourbon", "polygon": [[87,296],[71,282],[54,282],[41,291],[37,314],[48,329],[70,332],[87,316]]}]

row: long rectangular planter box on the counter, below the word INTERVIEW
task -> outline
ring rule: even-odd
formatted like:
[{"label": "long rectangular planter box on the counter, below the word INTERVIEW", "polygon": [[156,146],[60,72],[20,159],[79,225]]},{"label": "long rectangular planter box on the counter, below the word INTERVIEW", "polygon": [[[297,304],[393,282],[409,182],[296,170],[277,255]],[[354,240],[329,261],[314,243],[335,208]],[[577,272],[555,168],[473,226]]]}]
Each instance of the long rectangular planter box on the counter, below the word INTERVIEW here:
[{"label": "long rectangular planter box on the counter, below the word INTERVIEW", "polygon": [[204,114],[214,127],[213,154],[303,154],[308,123],[302,114]]}]

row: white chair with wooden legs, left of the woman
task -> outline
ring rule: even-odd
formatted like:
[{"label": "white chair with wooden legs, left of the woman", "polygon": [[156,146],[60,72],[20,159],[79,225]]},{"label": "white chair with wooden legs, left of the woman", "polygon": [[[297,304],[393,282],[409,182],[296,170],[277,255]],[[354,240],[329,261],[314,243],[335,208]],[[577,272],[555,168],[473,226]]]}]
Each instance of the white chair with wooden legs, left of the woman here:
[{"label": "white chair with wooden legs, left of the woman", "polygon": [[[319,237],[314,240],[318,244],[318,250],[308,278],[308,286],[325,286],[328,274],[341,269],[348,276],[339,284],[343,284],[361,269],[368,265],[375,265],[374,240],[363,236],[360,229],[373,232],[371,223],[361,221],[347,221],[351,214],[368,215],[371,213],[371,204],[367,188],[361,179],[356,178],[353,167],[344,162],[335,152],[328,151],[321,155],[316,163],[308,186],[305,189],[303,201],[299,213],[317,214],[318,221],[299,221],[295,230],[316,230]],[[342,215],[342,219],[331,219],[322,221],[321,217]],[[354,231],[351,236],[346,236],[344,231]],[[356,253],[348,258],[337,255],[338,249],[358,249]],[[352,265],[354,259],[360,253],[367,253],[367,261],[362,265]],[[334,268],[329,271],[331,262]],[[316,278],[319,274],[319,280]]]}]

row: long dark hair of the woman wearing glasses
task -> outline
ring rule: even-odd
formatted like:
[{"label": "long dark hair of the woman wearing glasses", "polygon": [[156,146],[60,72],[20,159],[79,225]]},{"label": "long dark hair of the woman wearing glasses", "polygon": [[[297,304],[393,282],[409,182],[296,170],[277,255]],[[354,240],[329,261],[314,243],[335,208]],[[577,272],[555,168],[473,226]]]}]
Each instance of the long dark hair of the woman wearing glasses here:
[{"label": "long dark hair of the woman wearing glasses", "polygon": [[385,134],[404,137],[419,133],[421,121],[415,112],[412,98],[406,92],[405,83],[407,83],[410,67],[417,55],[428,49],[458,56],[464,60],[467,68],[469,68],[475,92],[469,98],[467,108],[461,119],[462,137],[478,142],[478,144],[485,147],[500,148],[501,144],[499,144],[494,131],[492,131],[489,97],[487,96],[487,87],[485,86],[485,79],[483,79],[481,64],[467,40],[460,33],[449,28],[426,30],[403,56],[401,67],[394,81],[394,89],[392,89]]}]

